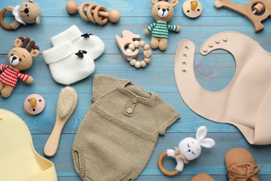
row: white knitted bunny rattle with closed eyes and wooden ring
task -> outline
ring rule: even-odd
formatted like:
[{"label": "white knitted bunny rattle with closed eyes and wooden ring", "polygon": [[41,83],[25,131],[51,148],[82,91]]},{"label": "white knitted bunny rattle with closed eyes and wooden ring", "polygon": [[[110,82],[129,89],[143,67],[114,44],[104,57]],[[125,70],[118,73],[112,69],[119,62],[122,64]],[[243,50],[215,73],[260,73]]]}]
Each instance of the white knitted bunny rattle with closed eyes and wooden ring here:
[{"label": "white knitted bunny rattle with closed eyes and wooden ring", "polygon": [[[186,139],[181,140],[181,142],[177,147],[174,147],[174,150],[168,149],[166,152],[163,152],[158,159],[158,167],[165,175],[176,175],[180,171],[183,171],[184,164],[188,164],[188,162],[192,159],[196,159],[202,152],[202,147],[204,148],[212,148],[215,145],[215,141],[213,139],[206,138],[207,128],[205,126],[201,126],[197,129],[196,139],[188,137]],[[174,171],[167,171],[163,167],[163,159],[165,156],[174,157],[177,162],[177,166]]]}]

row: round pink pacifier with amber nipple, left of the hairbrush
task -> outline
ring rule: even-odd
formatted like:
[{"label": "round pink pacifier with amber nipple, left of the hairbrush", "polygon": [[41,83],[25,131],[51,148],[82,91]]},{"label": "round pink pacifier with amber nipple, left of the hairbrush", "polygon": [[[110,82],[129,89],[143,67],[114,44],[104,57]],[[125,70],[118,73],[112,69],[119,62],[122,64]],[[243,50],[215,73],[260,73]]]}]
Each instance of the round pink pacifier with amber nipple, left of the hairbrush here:
[{"label": "round pink pacifier with amber nipple, left of the hairbrush", "polygon": [[41,95],[28,95],[24,100],[24,112],[28,116],[35,116],[42,112],[45,107],[45,100]]}]

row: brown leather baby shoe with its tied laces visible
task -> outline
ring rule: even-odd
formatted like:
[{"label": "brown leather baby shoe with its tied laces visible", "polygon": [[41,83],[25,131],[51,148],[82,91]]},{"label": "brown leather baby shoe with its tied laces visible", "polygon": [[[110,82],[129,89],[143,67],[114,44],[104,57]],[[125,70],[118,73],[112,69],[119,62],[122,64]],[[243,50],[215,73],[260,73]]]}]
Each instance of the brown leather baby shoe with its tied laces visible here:
[{"label": "brown leather baby shoe with its tied laces visible", "polygon": [[233,148],[225,155],[227,175],[230,181],[258,181],[258,168],[254,158],[244,148]]}]

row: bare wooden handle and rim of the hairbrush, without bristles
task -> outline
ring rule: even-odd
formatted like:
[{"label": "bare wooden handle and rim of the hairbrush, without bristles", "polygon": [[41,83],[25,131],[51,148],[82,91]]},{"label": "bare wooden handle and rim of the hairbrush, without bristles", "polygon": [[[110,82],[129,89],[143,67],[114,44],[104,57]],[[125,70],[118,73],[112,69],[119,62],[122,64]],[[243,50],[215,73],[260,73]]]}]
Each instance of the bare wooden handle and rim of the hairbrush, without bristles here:
[{"label": "bare wooden handle and rim of the hairbrush, without bristles", "polygon": [[54,157],[54,155],[56,155],[56,152],[58,151],[58,144],[60,141],[61,132],[63,130],[63,127],[67,123],[67,120],[69,120],[69,117],[71,117],[72,113],[74,113],[74,110],[77,105],[77,101],[78,101],[78,97],[76,95],[76,98],[74,100],[74,105],[72,106],[71,111],[64,118],[60,118],[60,116],[58,116],[58,113],[56,113],[56,123],[54,125],[54,129],[51,132],[46,144],[44,145],[43,152],[44,152],[44,155],[46,155],[47,157]]}]

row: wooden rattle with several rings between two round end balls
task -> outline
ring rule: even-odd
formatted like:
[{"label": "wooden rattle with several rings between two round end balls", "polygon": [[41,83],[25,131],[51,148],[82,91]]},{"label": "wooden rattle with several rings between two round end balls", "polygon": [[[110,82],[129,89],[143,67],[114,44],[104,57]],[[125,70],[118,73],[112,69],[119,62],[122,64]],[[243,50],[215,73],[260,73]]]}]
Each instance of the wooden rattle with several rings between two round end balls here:
[{"label": "wooden rattle with several rings between two round end balls", "polygon": [[[88,8],[85,8],[85,6],[88,6]],[[90,21],[101,25],[106,24],[108,20],[113,23],[120,20],[120,12],[118,10],[111,10],[109,13],[106,7],[90,2],[83,2],[80,6],[78,6],[76,1],[69,1],[66,4],[66,10],[72,15],[79,11],[80,16],[85,21]]]}]

